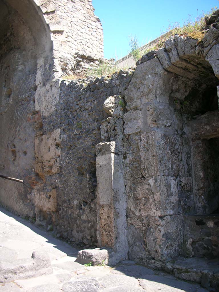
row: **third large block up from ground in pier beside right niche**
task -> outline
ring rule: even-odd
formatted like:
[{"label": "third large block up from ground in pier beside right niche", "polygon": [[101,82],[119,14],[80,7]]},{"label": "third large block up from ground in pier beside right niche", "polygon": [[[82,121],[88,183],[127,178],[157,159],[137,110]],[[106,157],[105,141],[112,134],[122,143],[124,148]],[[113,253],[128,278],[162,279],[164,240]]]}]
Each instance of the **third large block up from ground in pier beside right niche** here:
[{"label": "third large block up from ground in pier beside right niche", "polygon": [[178,175],[182,148],[182,141],[177,133],[162,131],[142,133],[139,149],[144,176],[148,178]]}]

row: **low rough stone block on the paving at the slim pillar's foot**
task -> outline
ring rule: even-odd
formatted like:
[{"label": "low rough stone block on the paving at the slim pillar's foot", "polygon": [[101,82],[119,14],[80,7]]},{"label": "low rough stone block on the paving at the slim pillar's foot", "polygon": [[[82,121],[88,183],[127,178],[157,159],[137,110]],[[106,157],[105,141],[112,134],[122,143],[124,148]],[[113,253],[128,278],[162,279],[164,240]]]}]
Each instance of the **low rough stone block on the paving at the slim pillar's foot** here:
[{"label": "low rough stone block on the paving at the slim pillar's foot", "polygon": [[107,249],[84,249],[78,252],[76,262],[82,265],[89,263],[92,265],[107,265],[109,262],[109,253]]}]

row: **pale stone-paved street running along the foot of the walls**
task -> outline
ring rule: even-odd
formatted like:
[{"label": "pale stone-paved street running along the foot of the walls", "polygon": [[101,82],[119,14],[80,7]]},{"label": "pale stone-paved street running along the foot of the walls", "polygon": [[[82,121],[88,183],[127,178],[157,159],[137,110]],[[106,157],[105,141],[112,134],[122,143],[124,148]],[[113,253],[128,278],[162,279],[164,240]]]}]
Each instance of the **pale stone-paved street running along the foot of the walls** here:
[{"label": "pale stone-paved street running along the foot of the walls", "polygon": [[75,263],[78,250],[0,208],[0,292],[206,292],[132,261]]}]

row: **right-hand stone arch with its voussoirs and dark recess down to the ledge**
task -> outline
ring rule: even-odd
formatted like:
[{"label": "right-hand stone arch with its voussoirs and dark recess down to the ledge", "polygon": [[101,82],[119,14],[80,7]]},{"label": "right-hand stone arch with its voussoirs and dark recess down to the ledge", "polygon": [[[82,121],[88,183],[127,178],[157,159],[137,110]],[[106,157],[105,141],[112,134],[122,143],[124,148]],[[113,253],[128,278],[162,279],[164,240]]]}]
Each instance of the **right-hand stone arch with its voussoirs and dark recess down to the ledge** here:
[{"label": "right-hand stone arch with its voussoirs and dark recess down to the ledge", "polygon": [[171,95],[190,129],[194,212],[202,215],[219,208],[219,49],[209,41],[214,33],[211,28],[201,42],[176,35],[157,52],[164,69],[177,76]]}]

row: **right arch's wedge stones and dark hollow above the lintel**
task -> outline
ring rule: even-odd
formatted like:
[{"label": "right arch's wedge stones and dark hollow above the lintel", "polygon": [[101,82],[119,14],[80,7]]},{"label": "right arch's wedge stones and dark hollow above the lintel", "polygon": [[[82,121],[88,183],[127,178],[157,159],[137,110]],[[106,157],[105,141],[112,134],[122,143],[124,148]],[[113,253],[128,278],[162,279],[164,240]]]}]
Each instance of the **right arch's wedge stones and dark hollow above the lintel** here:
[{"label": "right arch's wedge stones and dark hollow above the lintel", "polygon": [[209,57],[212,50],[206,55],[208,51],[201,52],[201,45],[197,39],[176,35],[168,39],[165,48],[157,52],[164,69],[181,78],[181,88],[173,85],[173,91],[180,89],[175,97],[184,101],[187,104],[184,111],[194,116],[218,109],[217,68],[211,66],[214,64]]}]

